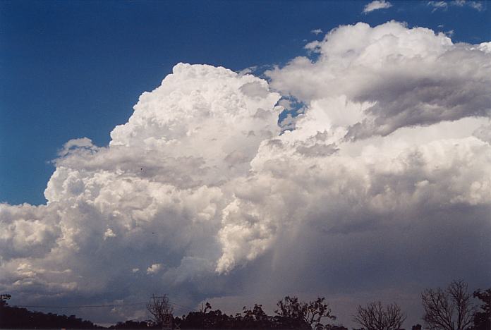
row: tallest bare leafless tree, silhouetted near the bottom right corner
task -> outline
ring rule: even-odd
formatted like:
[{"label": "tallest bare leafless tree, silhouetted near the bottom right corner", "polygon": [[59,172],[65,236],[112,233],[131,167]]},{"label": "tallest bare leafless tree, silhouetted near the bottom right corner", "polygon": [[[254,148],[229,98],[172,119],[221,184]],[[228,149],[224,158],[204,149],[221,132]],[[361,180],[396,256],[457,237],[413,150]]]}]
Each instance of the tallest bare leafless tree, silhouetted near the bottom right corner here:
[{"label": "tallest bare leafless tree, silhouetted near the bottom right corner", "polygon": [[421,298],[423,320],[431,330],[465,330],[473,320],[471,294],[463,281],[452,281],[446,289],[426,289]]}]

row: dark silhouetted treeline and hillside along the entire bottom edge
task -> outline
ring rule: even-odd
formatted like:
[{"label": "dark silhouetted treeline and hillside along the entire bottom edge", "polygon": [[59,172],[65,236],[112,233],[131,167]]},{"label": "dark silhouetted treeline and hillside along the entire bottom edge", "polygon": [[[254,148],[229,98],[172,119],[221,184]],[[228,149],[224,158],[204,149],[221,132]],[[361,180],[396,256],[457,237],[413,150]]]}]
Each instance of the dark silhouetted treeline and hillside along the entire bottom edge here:
[{"label": "dark silhouetted treeline and hillside along the entire bottom edge", "polygon": [[[90,321],[71,315],[30,312],[25,308],[8,306],[10,295],[0,295],[0,328],[8,329],[102,329]],[[424,308],[425,329],[431,330],[490,330],[491,288],[468,293],[463,281],[452,281],[447,288],[427,289],[421,293]],[[478,304],[473,302],[478,300]],[[147,304],[152,319],[147,321],[118,322],[109,329],[315,329],[348,330],[341,324],[332,324],[336,317],[325,302],[317,298],[302,302],[296,297],[286,296],[277,303],[274,315],[262,310],[262,305],[243,307],[242,312],[227,315],[213,310],[209,302],[199,311],[174,317],[173,305],[164,295],[153,296]],[[396,303],[382,305],[370,302],[358,305],[353,322],[358,330],[402,330],[406,314]],[[412,330],[421,330],[417,324]],[[353,329],[357,330],[357,329]]]}]

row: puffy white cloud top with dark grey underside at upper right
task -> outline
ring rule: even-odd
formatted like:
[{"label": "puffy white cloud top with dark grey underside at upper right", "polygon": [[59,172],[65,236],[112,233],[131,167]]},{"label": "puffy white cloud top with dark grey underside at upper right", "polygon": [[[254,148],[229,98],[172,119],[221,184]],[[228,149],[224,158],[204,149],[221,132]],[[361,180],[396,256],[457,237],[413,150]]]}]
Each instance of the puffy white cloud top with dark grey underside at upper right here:
[{"label": "puffy white cloud top with dark grey underside at upper right", "polygon": [[[346,138],[490,114],[491,75],[482,68],[489,55],[469,44],[453,44],[443,33],[396,22],[358,23],[306,47],[319,59],[298,57],[267,72],[272,87],[303,102],[336,95],[371,102]],[[456,61],[466,64],[455,66]]]}]

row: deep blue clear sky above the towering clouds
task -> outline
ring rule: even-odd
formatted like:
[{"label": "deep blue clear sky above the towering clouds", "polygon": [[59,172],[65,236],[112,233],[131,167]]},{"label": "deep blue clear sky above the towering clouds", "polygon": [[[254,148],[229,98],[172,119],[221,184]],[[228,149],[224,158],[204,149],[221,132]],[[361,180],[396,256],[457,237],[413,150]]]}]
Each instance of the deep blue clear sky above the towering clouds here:
[{"label": "deep blue clear sky above the towering clouds", "polygon": [[[491,39],[491,12],[471,6],[433,11],[394,1],[1,1],[0,200],[45,202],[63,143],[107,145],[144,91],[178,62],[240,71],[283,65],[305,54],[311,30],[388,20],[450,31],[454,42]],[[487,1],[482,2],[487,8]]]}]

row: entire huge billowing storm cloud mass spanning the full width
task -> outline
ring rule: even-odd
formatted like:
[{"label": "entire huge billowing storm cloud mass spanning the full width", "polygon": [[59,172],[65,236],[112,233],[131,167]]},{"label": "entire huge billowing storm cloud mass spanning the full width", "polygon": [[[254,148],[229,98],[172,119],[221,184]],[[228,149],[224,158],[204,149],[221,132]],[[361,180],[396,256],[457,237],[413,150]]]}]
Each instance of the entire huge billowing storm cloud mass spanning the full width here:
[{"label": "entire huge billowing storm cloud mass spanning the full width", "polygon": [[[67,142],[46,205],[0,205],[0,289],[226,295],[224,277],[261,258],[276,283],[308,269],[321,288],[350,269],[375,281],[366,260],[393,265],[394,281],[418,269],[479,281],[491,266],[490,44],[389,22],[307,48],[318,59],[268,71],[269,84],[180,63],[109,146]],[[284,133],[281,94],[305,104]]]}]

